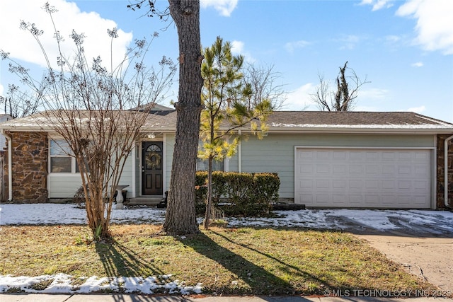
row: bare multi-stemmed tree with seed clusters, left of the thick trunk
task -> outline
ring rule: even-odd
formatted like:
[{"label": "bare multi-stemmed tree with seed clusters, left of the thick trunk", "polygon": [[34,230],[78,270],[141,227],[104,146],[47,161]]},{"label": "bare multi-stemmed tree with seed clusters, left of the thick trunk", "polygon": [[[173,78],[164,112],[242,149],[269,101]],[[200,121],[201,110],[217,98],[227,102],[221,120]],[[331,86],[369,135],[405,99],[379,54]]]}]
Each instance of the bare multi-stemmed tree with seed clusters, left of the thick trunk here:
[{"label": "bare multi-stemmed tree with seed clusters, left of the thick trunk", "polygon": [[[60,50],[59,33],[52,18],[55,9],[45,6],[55,28]],[[35,25],[22,24],[38,44],[42,31]],[[108,30],[117,37],[116,29]],[[155,36],[154,36],[155,37]],[[153,37],[153,38],[154,38]],[[42,81],[35,81],[28,69],[10,59],[10,71],[35,92],[45,112],[32,115],[43,129],[52,129],[51,139],[63,139],[69,147],[62,151],[74,157],[80,170],[86,199],[88,226],[93,236],[110,236],[110,213],[115,188],[131,151],[142,137],[142,126],[152,106],[169,88],[176,66],[166,57],[159,68],[144,66],[149,49],[145,40],[136,40],[119,66],[105,67],[101,57],[88,59],[84,52],[84,35],[73,30],[76,47],[74,60],[60,51],[59,69],[52,68],[44,47],[47,72]],[[111,45],[110,49],[111,49]],[[8,59],[5,52],[2,59]],[[140,106],[141,110],[132,110]]]}]

